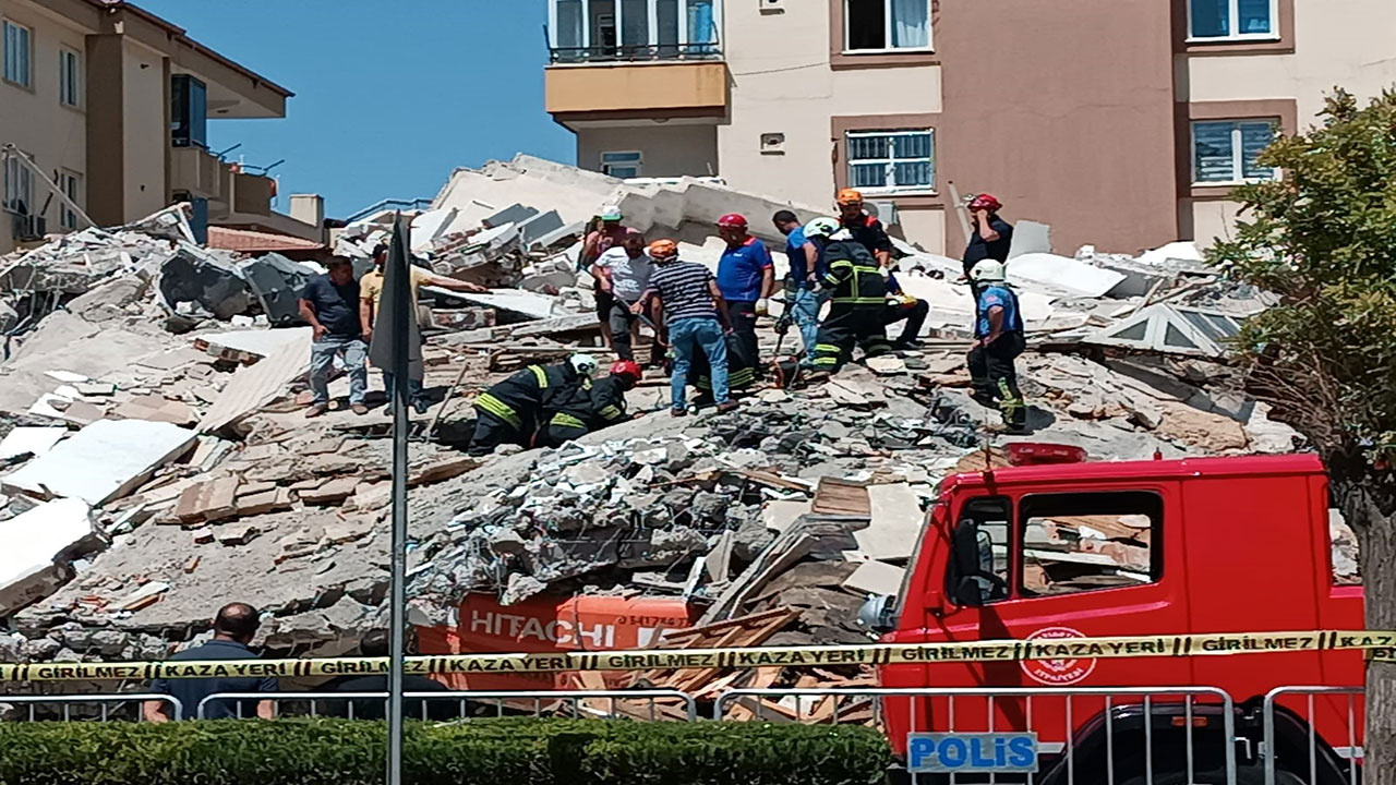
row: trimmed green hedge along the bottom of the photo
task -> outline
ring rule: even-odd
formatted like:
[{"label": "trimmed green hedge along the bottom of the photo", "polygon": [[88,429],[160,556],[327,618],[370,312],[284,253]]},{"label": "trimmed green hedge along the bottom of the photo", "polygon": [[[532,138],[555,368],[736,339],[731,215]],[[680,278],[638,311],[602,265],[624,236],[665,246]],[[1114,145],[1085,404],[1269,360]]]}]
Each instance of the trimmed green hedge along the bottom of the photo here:
[{"label": "trimmed green hedge along the bottom of the photo", "polygon": [[[341,719],[0,722],[4,785],[378,785],[384,724]],[[863,785],[867,728],[484,719],[409,724],[403,779],[450,785]]]}]

